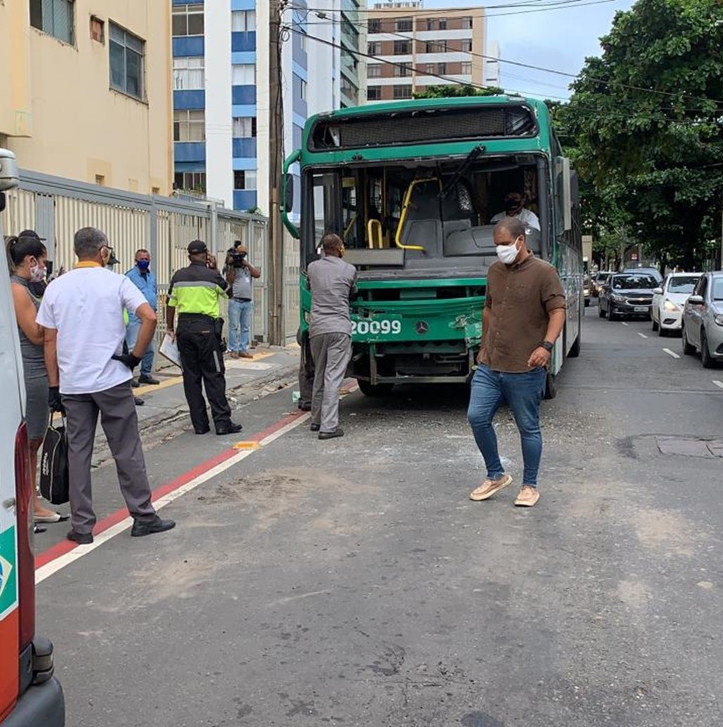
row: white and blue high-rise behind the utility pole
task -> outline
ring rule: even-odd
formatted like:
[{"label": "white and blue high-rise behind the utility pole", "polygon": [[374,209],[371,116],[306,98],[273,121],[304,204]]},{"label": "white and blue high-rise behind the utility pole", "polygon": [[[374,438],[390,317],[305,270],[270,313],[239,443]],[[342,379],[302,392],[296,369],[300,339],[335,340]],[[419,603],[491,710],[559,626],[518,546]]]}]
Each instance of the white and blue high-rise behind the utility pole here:
[{"label": "white and blue high-rise behind the utility pole", "polygon": [[[283,13],[285,153],[312,113],[363,97],[360,1],[294,0]],[[172,14],[175,188],[268,214],[270,2],[173,0]]]}]

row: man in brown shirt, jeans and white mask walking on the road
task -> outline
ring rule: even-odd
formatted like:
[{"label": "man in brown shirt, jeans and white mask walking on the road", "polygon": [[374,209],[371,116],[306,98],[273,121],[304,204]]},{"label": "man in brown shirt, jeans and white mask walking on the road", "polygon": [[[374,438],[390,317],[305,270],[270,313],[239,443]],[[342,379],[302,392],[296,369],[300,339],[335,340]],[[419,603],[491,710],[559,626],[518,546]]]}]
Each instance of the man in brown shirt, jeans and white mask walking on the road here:
[{"label": "man in brown shirt, jeans and white mask walking on the road", "polygon": [[467,419],[487,465],[487,478],[469,495],[483,500],[512,483],[500,462],[494,416],[512,410],[522,440],[522,489],[514,504],[532,507],[540,495],[540,402],[552,348],[565,326],[565,291],[552,265],[525,246],[525,224],[506,217],[494,231],[497,257],[487,278],[482,345]]}]

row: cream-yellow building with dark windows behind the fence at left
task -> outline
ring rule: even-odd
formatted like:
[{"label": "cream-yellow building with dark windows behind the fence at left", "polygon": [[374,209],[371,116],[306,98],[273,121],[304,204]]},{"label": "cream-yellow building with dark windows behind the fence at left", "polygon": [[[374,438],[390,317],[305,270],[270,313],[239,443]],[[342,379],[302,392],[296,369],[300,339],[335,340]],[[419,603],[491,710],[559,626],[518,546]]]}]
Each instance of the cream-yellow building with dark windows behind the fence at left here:
[{"label": "cream-yellow building with dark windows behind the fence at left", "polygon": [[168,194],[170,26],[156,0],[0,2],[0,146],[23,169]]}]

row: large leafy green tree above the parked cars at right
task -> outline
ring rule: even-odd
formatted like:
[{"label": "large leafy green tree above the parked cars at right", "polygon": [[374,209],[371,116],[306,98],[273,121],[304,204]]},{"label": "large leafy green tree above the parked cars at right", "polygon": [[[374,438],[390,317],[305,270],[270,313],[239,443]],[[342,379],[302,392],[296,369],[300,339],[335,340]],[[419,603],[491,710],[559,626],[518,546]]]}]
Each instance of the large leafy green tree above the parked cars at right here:
[{"label": "large leafy green tree above the parked cars at right", "polygon": [[599,231],[625,225],[663,264],[692,269],[723,199],[722,6],[639,0],[615,15],[602,48],[555,114],[599,196]]}]

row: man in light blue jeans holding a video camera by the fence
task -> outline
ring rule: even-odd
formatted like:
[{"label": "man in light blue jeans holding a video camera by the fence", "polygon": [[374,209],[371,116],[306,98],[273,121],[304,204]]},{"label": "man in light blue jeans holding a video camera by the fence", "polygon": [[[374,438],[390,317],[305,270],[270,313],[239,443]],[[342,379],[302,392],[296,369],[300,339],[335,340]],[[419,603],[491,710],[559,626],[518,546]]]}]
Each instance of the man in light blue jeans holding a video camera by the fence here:
[{"label": "man in light blue jeans holding a video camera by the fence", "polygon": [[231,286],[228,301],[228,348],[231,358],[254,358],[249,353],[251,316],[254,314],[254,278],[261,270],[248,260],[246,246],[235,241],[226,255],[226,281]]}]

